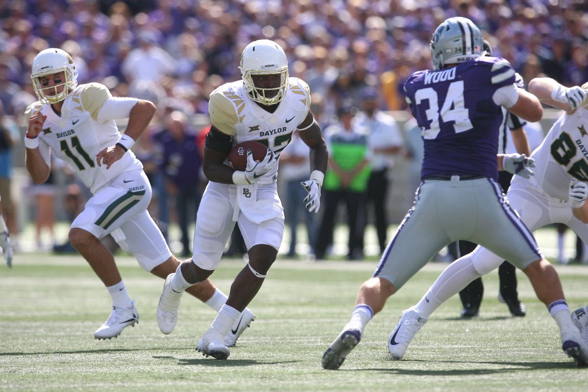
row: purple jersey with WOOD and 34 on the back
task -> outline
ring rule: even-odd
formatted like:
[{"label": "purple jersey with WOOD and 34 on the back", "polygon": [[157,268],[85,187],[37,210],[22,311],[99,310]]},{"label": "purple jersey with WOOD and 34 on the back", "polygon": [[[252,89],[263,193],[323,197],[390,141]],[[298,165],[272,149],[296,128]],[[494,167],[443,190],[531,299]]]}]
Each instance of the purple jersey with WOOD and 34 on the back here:
[{"label": "purple jersey with WOOD and 34 on the back", "polygon": [[498,133],[504,118],[492,97],[513,83],[515,70],[496,57],[410,75],[406,99],[425,140],[421,178],[483,175],[497,180]]}]

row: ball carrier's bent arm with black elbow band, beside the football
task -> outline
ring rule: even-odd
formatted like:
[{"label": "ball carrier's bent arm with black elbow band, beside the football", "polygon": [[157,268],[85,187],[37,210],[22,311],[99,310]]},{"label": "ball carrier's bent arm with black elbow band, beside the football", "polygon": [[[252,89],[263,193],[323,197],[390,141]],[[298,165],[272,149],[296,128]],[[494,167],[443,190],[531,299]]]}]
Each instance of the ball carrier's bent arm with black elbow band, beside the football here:
[{"label": "ball carrier's bent arm with black elbow band, beside the football", "polygon": [[232,136],[220,132],[214,125],[211,126],[210,132],[206,135],[204,159],[202,160],[202,169],[209,181],[223,184],[233,183],[235,169],[225,165],[225,160],[232,147],[232,140]]}]

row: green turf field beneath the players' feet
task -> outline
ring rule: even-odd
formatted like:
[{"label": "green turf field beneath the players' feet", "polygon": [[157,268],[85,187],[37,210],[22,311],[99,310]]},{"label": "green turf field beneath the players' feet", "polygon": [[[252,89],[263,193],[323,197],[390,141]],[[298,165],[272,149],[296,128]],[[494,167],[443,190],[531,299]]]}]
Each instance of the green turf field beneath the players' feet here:
[{"label": "green turf field beneath the players' feet", "polygon": [[[215,314],[185,296],[176,330],[164,336],[155,310],[163,281],[131,257],[117,257],[139,324],[118,339],[92,333],[110,299],[79,256],[18,254],[0,265],[2,391],[586,391],[588,368],[560,349],[554,321],[519,272],[527,317],[513,319],[496,299],[497,273],[485,277],[480,317],[457,318],[454,297],[433,315],[406,354],[387,356],[400,311],[420,299],[446,264],[432,263],[393,296],[339,371],[320,366],[349,318],[360,283],[376,262],[278,260],[250,304],[257,320],[226,361],[196,343]],[[228,293],[242,261],[226,260],[213,282]],[[570,307],[588,303],[587,266],[557,266]]]}]

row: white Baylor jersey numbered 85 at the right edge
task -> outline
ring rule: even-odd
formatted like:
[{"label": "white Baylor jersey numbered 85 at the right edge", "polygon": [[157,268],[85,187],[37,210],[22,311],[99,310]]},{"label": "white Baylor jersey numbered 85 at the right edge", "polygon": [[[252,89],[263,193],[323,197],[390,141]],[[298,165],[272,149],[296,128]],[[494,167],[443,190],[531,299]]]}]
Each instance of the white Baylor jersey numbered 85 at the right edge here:
[{"label": "white Baylor jersey numbered 85 at the right edge", "polygon": [[554,199],[567,200],[572,178],[588,182],[588,106],[560,117],[531,156],[535,175],[529,180],[515,176],[513,183],[527,182]]}]

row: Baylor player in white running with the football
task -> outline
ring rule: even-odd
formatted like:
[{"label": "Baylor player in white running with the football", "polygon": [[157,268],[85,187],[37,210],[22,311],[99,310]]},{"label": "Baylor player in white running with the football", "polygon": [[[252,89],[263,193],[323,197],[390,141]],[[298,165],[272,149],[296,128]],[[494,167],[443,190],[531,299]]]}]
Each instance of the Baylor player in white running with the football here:
[{"label": "Baylor player in white running with the football", "polygon": [[[235,222],[239,223],[249,262],[197,345],[204,355],[215,359],[229,356],[223,344],[225,334],[262,286],[282,242],[284,214],[276,188],[279,153],[293,132],[299,132],[309,146],[312,173],[302,186],[308,191],[303,202],[310,212],[319,210],[328,160],[325,140],[310,111],[309,87],[289,77],[283,49],[267,39],[251,42],[243,50],[239,68],[241,80],[211,93],[212,127],[206,135],[203,160],[210,182],[196,216],[193,257],[168,276],[158,307],[160,329],[172,330],[183,290],[214,272]],[[245,171],[235,170],[228,165],[227,156],[232,146],[246,140],[264,143],[268,153],[260,162],[248,153]],[[165,314],[172,316],[163,317]]]}]

